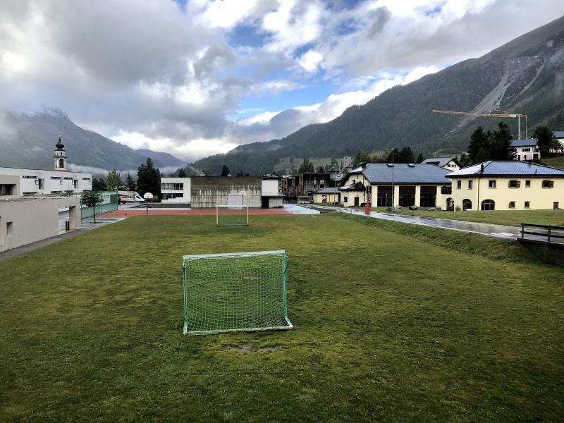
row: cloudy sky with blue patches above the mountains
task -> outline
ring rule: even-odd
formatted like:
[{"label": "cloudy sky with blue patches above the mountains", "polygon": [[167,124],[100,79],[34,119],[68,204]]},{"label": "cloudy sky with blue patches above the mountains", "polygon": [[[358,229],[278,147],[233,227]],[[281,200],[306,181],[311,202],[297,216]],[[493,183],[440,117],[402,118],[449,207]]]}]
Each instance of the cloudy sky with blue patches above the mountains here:
[{"label": "cloudy sky with blue patches above the mountains", "polygon": [[563,13],[558,0],[5,0],[0,107],[59,106],[195,159],[328,121]]}]

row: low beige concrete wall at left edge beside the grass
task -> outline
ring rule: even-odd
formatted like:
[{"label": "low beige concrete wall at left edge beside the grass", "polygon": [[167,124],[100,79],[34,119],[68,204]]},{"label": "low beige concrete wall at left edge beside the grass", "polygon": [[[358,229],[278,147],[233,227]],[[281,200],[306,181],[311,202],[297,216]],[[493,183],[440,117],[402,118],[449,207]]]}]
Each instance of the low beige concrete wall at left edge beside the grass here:
[{"label": "low beige concrete wall at left edge beside the grass", "polygon": [[68,207],[71,231],[80,228],[80,198],[20,197],[0,200],[0,251],[59,235],[59,210]]}]

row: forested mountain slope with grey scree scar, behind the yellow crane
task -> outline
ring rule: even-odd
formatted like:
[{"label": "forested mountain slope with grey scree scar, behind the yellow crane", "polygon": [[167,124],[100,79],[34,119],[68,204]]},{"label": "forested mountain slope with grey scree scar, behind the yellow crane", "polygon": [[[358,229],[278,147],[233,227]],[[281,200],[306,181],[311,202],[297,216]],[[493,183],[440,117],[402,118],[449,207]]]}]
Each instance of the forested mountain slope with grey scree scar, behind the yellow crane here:
[{"label": "forested mountain slope with grey scree scar, behind the yellow crane", "polygon": [[[412,147],[424,156],[465,151],[478,125],[495,118],[435,114],[433,109],[527,114],[528,135],[548,123],[564,130],[564,17],[528,32],[478,59],[468,59],[409,85],[393,87],[328,123],[308,125],[282,140],[242,145],[192,164],[217,174],[270,171],[283,157],[342,157],[385,147]],[[507,121],[517,137],[517,122]],[[522,122],[525,136],[525,122]]]}]

